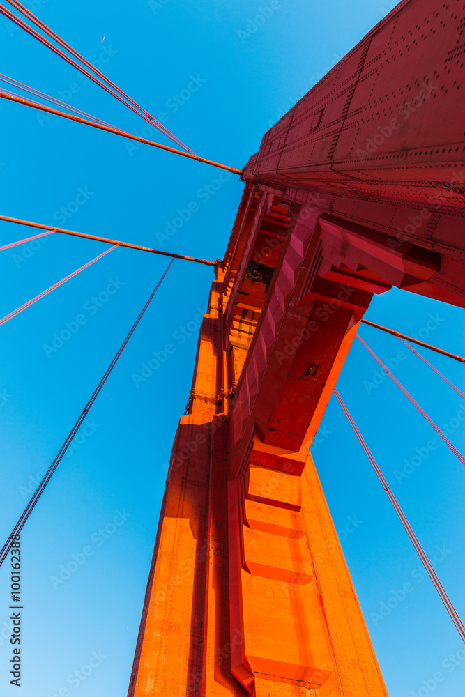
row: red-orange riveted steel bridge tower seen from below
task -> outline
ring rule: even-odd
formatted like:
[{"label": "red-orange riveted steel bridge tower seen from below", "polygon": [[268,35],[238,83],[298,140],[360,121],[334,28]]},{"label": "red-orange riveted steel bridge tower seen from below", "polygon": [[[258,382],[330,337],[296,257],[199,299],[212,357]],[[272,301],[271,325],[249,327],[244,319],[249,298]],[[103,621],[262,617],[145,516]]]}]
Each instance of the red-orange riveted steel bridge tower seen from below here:
[{"label": "red-orange riveted steel bridge tower seen from below", "polygon": [[387,695],[309,447],[373,293],[465,306],[464,30],[403,0],[247,164],[130,697]]}]

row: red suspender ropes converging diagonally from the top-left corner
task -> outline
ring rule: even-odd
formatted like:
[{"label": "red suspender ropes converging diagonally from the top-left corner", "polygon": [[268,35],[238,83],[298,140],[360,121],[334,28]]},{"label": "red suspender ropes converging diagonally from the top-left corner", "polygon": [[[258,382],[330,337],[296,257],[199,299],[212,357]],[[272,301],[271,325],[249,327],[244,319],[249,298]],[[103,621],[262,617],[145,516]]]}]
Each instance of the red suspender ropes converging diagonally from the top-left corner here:
[{"label": "red suspender ropes converging diagonally from the top-left corner", "polygon": [[[14,15],[12,12],[10,12],[10,10],[8,10],[5,6],[0,5],[0,13],[5,15],[5,17],[8,17],[8,19],[10,21],[14,22],[15,24],[17,24],[17,26],[20,26],[21,29],[24,29],[24,31],[27,31],[27,33],[29,33],[31,36],[33,36],[38,41],[40,41],[40,43],[42,43],[44,46],[46,46],[47,48],[52,50],[56,55],[63,58],[63,60],[65,60],[67,63],[70,63],[71,66],[73,66],[74,68],[77,68],[77,70],[79,70],[79,72],[82,72],[84,75],[89,77],[89,79],[91,79],[93,82],[95,82],[100,87],[105,89],[105,91],[107,91],[109,94],[116,97],[116,99],[118,99],[120,102],[122,102],[125,106],[132,109],[133,112],[135,112],[139,116],[142,116],[142,118],[144,118],[145,121],[148,121],[148,123],[152,123],[152,125],[154,125],[155,128],[158,128],[158,130],[161,130],[165,135],[167,135],[167,137],[169,137],[171,140],[174,140],[181,147],[185,148],[186,151],[192,153],[192,151],[190,150],[190,148],[188,148],[188,146],[183,144],[183,142],[181,140],[179,140],[175,135],[173,135],[167,128],[165,128],[164,125],[162,125],[161,123],[156,121],[153,118],[153,116],[151,116],[150,114],[148,114],[148,112],[145,111],[145,109],[142,109],[142,107],[139,107],[139,105],[137,105],[137,102],[134,102],[133,100],[128,98],[128,96],[125,95],[125,93],[123,93],[122,90],[117,88],[116,85],[113,86],[113,83],[109,79],[107,79],[99,70],[97,70],[94,66],[92,66],[92,64],[89,63],[89,61],[86,61],[86,59],[84,59],[82,56],[80,56],[80,54],[78,54],[74,49],[72,49],[68,44],[66,44],[66,42],[61,40],[61,38],[59,38],[59,36],[56,33],[54,33],[51,29],[49,29],[46,24],[44,24],[43,22],[40,22],[40,20],[38,20],[38,18],[35,15],[33,15],[29,10],[27,10],[24,6],[22,6],[21,3],[16,3],[16,2],[13,2],[11,0],[8,0],[8,2],[10,2],[10,4],[13,5],[17,10],[20,10],[20,12],[23,15],[25,15],[31,22],[36,24],[36,26],[39,26],[40,29],[45,31],[45,33],[47,33],[50,37],[54,38],[54,40],[56,40],[58,43],[63,45],[63,47],[66,47],[66,49],[68,51],[70,51],[71,53],[73,53],[73,55],[75,55],[80,61],[82,61],[86,65],[90,66],[90,68],[93,72],[97,72],[98,74],[100,74],[105,79],[106,82],[109,82],[109,84],[112,84],[112,87],[109,88],[106,84],[101,82],[100,79],[98,79],[97,77],[92,75],[91,72],[89,72],[88,70],[86,70],[82,66],[79,66],[79,64],[76,63],[76,61],[71,59],[69,56],[66,56],[66,54],[64,54],[63,51],[61,51],[61,49],[54,46],[45,37],[40,36],[40,34],[35,29],[33,29],[31,26],[29,26],[28,24],[26,24],[25,22],[20,20],[19,17],[16,17],[16,15]],[[121,93],[121,95],[124,95],[124,96],[121,97],[118,93],[115,92],[115,89],[119,93]],[[130,102],[132,102],[132,104]]]}]

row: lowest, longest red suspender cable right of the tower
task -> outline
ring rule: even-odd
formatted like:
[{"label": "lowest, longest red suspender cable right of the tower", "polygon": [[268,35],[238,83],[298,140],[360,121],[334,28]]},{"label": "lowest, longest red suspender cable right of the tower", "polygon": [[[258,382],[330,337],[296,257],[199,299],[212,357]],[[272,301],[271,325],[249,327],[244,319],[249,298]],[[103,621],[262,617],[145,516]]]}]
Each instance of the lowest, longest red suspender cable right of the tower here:
[{"label": "lowest, longest red suspender cable right of the tower", "polygon": [[411,528],[411,525],[409,521],[406,519],[406,516],[400,507],[399,503],[397,502],[397,498],[395,498],[394,494],[392,493],[389,484],[384,477],[383,473],[381,472],[381,469],[379,468],[378,464],[376,463],[376,460],[374,459],[372,452],[369,450],[369,447],[367,446],[367,443],[365,443],[365,440],[360,434],[360,431],[358,430],[358,427],[356,425],[356,422],[353,420],[351,417],[351,414],[349,413],[349,409],[346,407],[344,404],[344,401],[342,401],[342,397],[340,396],[339,392],[337,390],[334,390],[334,394],[337,398],[337,401],[339,401],[339,404],[342,406],[342,410],[344,411],[344,414],[346,415],[347,419],[349,420],[349,423],[351,424],[351,427],[353,429],[353,432],[356,434],[358,441],[360,445],[363,447],[363,450],[365,450],[365,454],[367,455],[367,458],[369,459],[370,464],[372,465],[372,468],[374,469],[376,476],[378,477],[379,481],[381,482],[384,491],[386,491],[386,494],[388,495],[388,498],[390,502],[392,503],[392,506],[394,507],[395,512],[397,513],[397,516],[399,516],[399,520],[401,521],[402,525],[404,526],[404,530],[406,530],[407,535],[409,535],[409,538],[411,539],[411,542],[413,546],[416,549],[416,552],[418,553],[418,556],[420,557],[420,560],[422,561],[423,566],[426,569],[426,572],[429,576],[429,578],[432,580],[434,584],[434,588],[436,588],[437,592],[439,593],[439,597],[441,598],[445,609],[448,611],[448,614],[454,622],[454,625],[457,629],[457,631],[460,634],[460,637],[462,638],[462,641],[465,642],[465,625],[462,622],[459,614],[457,613],[457,610],[455,609],[454,605],[452,604],[448,594],[445,592],[444,587],[439,580],[438,575],[434,571],[432,567],[432,563],[429,561],[429,558],[427,557],[427,554],[425,553],[424,549],[422,548],[420,542],[418,541],[418,537],[416,534],[413,532],[413,528]]}]

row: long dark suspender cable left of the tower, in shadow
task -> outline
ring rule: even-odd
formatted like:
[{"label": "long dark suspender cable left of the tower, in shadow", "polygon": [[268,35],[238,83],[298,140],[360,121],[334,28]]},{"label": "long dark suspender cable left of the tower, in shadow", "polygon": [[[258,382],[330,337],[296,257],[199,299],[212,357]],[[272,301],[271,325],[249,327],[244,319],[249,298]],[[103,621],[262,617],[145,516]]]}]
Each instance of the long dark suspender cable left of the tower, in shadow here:
[{"label": "long dark suspender cable left of the tower, in shadow", "polygon": [[70,430],[70,432],[69,432],[68,436],[66,437],[66,440],[64,441],[63,445],[61,446],[58,454],[56,454],[54,461],[49,466],[49,468],[48,468],[47,472],[45,473],[43,479],[41,480],[38,488],[33,493],[31,500],[26,505],[26,508],[22,512],[22,515],[21,515],[19,521],[17,521],[15,527],[13,528],[13,532],[10,533],[5,544],[3,544],[3,547],[0,550],[0,566],[3,564],[6,557],[8,556],[8,552],[11,549],[11,544],[13,542],[13,539],[15,539],[15,535],[18,535],[21,532],[22,528],[24,527],[24,524],[26,523],[27,519],[31,515],[31,512],[33,511],[34,507],[36,506],[36,503],[38,502],[40,496],[42,496],[43,491],[44,491],[45,487],[47,487],[47,484],[48,484],[50,478],[52,477],[56,468],[59,466],[61,459],[63,458],[63,455],[65,454],[66,450],[68,450],[68,447],[72,443],[73,438],[77,434],[77,431],[79,431],[79,428],[81,427],[82,422],[84,422],[84,419],[86,418],[87,414],[89,413],[89,409],[93,405],[94,401],[96,401],[98,394],[100,393],[100,390],[102,390],[103,385],[105,385],[105,382],[107,381],[109,374],[112,372],[112,370],[113,370],[114,366],[116,365],[116,362],[119,359],[121,353],[123,353],[123,350],[124,350],[126,344],[128,344],[129,339],[134,334],[135,329],[137,328],[137,325],[139,324],[142,317],[144,316],[146,309],[148,308],[148,305],[150,305],[151,300],[153,299],[153,296],[155,296],[155,293],[160,288],[160,285],[162,284],[163,279],[167,275],[169,268],[170,268],[171,264],[173,263],[173,261],[174,261],[174,259],[171,259],[171,261],[169,262],[167,268],[165,269],[165,272],[163,273],[162,277],[158,281],[158,284],[155,286],[155,289],[151,293],[151,296],[148,298],[146,304],[142,308],[142,312],[139,314],[135,323],[130,328],[128,335],[125,337],[123,343],[121,344],[118,351],[114,355],[112,362],[110,363],[109,367],[107,368],[107,370],[103,374],[102,378],[100,379],[100,382],[98,383],[96,389],[93,391],[91,398],[87,402],[86,406],[84,406],[84,409],[80,413],[79,418],[77,418],[77,421],[75,422],[73,428]]}]

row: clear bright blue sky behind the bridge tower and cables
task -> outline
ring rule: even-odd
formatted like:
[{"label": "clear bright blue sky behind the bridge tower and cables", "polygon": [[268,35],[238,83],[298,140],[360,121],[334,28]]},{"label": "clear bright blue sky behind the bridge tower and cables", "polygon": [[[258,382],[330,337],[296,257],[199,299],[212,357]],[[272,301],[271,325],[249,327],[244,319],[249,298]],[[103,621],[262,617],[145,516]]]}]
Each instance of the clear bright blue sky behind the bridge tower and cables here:
[{"label": "clear bright blue sky behind the bridge tower and cables", "polygon": [[[29,1],[40,19],[84,56],[103,58],[105,73],[155,117],[165,112],[167,128],[192,150],[236,167],[391,7],[383,0],[280,0],[263,26],[247,31],[259,7],[268,5],[267,0]],[[74,106],[132,132],[146,125],[97,86],[84,84],[33,38],[12,32],[3,19],[0,56],[1,72],[10,77],[61,93]],[[176,97],[181,93],[184,98]],[[211,195],[206,187],[218,173],[204,165],[144,146],[128,151],[123,139],[59,118],[39,120],[20,105],[2,101],[0,114],[1,213],[181,254],[223,256],[243,190],[238,178],[231,176]],[[176,210],[192,202],[198,210],[164,238]],[[0,245],[30,234],[2,223]],[[105,250],[88,240],[58,235],[45,240],[37,248],[1,252],[0,316]],[[158,256],[115,250],[0,328],[2,538],[166,265]],[[23,697],[66,694],[64,688],[78,697],[126,694],[165,466],[188,399],[196,316],[204,312],[212,277],[210,268],[174,263],[98,397],[86,433],[64,457],[24,528]],[[99,295],[96,304],[92,298]],[[54,335],[66,323],[75,328],[79,315],[85,321],[50,351]],[[437,326],[427,340],[463,354],[461,309],[391,291],[375,298],[367,313],[408,334],[426,328],[431,315]],[[371,328],[360,333],[386,360],[403,348]],[[133,375],[167,342],[175,353],[136,386]],[[437,355],[428,358],[463,386],[464,367]],[[436,570],[463,617],[464,468],[388,378],[370,387],[375,369],[356,342],[340,392],[425,550],[436,555]],[[432,418],[447,425],[463,452],[459,396],[413,354],[401,360],[396,374]],[[463,697],[463,643],[419,572],[416,553],[335,399],[318,441],[314,458],[390,697]],[[421,461],[412,469],[415,456]],[[408,476],[402,476],[404,468]],[[61,567],[75,559],[75,571],[57,582]],[[11,646],[3,638],[8,632],[1,631],[4,622],[8,629],[9,574],[5,564],[1,697],[16,694],[8,675]],[[406,583],[411,590],[402,597],[399,589]],[[384,616],[383,604],[390,610]],[[75,673],[82,666],[88,673],[80,673],[83,680]]]}]

